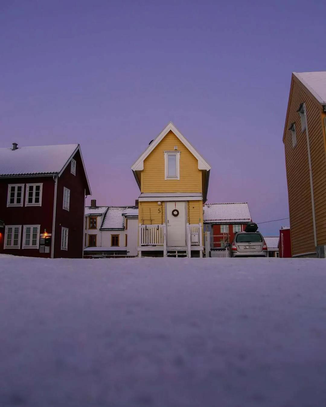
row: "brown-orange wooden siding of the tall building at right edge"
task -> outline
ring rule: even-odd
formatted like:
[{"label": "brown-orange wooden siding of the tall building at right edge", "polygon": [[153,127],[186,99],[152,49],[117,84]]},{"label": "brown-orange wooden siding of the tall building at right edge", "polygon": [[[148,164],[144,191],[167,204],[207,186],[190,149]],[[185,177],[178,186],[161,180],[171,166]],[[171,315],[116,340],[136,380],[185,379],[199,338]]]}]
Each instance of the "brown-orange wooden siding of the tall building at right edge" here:
[{"label": "brown-orange wooden siding of the tall building at right edge", "polygon": [[[291,94],[284,131],[284,148],[293,255],[315,251],[306,131],[301,131],[300,115],[297,112],[302,102],[306,103],[307,112],[317,244],[326,244],[326,212],[324,209],[326,163],[321,116],[322,108],[302,85],[292,77]],[[292,146],[291,131],[289,130],[293,122],[295,123],[297,138],[295,147]]]}]

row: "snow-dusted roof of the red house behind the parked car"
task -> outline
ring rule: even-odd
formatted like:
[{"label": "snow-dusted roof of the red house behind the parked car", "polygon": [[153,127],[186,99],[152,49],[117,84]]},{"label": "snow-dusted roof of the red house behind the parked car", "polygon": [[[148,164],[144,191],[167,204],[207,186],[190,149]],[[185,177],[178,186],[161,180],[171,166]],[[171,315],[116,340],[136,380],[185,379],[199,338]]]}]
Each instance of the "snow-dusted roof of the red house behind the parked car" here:
[{"label": "snow-dusted roof of the red house behind the parked car", "polygon": [[204,223],[251,222],[247,202],[230,204],[205,204]]}]

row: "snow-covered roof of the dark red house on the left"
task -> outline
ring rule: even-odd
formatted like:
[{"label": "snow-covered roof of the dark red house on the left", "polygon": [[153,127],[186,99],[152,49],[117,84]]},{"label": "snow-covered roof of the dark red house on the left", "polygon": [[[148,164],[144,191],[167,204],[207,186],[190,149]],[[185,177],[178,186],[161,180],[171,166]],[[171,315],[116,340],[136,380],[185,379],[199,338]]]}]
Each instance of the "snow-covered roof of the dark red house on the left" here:
[{"label": "snow-covered roof of the dark red house on the left", "polygon": [[0,148],[0,175],[60,173],[79,144]]}]

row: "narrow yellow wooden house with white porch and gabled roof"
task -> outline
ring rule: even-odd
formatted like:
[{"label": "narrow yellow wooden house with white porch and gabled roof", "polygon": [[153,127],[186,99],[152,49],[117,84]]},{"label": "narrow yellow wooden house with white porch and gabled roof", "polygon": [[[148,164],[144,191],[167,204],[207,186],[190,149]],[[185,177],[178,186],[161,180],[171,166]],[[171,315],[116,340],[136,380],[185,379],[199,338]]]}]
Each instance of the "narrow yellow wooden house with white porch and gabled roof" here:
[{"label": "narrow yellow wooden house with white porch and gabled roof", "polygon": [[210,168],[171,122],[149,143],[131,166],[140,189],[140,256],[202,257]]}]

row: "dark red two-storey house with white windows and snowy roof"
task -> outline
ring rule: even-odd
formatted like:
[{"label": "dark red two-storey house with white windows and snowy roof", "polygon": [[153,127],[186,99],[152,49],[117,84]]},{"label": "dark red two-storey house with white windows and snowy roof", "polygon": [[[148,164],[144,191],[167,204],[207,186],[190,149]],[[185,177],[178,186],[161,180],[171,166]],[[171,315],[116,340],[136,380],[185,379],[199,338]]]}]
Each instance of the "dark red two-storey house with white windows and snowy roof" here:
[{"label": "dark red two-storey house with white windows and snowy roof", "polygon": [[79,144],[1,148],[0,253],[81,258],[87,195]]}]

